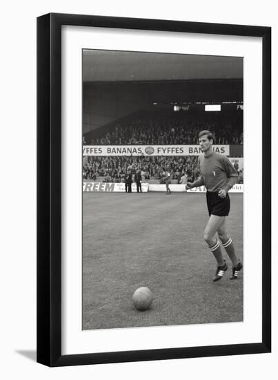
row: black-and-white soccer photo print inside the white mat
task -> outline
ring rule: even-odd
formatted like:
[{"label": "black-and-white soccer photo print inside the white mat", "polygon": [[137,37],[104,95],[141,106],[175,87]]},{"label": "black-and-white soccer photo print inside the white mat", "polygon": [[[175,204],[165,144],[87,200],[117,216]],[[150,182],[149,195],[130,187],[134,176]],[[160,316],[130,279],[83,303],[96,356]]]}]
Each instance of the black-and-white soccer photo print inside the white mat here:
[{"label": "black-and-white soccer photo print inside the white mat", "polygon": [[82,50],[82,329],[244,321],[244,57]]}]

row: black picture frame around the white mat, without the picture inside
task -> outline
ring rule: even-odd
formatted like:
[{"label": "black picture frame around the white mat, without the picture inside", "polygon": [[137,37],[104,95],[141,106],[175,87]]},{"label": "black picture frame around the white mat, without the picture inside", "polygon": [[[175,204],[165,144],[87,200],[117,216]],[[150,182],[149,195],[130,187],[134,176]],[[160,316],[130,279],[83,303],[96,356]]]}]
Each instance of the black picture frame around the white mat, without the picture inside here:
[{"label": "black picture frame around the white mat, without the picture inside", "polygon": [[[92,26],[261,37],[262,337],[257,343],[61,354],[61,27]],[[37,361],[49,366],[150,361],[271,350],[271,28],[87,15],[37,19]]]}]

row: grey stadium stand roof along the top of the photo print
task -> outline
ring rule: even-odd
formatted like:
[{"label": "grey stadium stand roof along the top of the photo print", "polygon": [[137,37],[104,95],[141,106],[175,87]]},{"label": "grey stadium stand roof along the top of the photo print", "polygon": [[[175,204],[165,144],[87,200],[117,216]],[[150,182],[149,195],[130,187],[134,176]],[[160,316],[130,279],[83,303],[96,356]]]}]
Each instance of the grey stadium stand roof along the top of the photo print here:
[{"label": "grey stadium stand roof along the top of the photo print", "polygon": [[243,57],[83,50],[83,82],[242,78]]}]

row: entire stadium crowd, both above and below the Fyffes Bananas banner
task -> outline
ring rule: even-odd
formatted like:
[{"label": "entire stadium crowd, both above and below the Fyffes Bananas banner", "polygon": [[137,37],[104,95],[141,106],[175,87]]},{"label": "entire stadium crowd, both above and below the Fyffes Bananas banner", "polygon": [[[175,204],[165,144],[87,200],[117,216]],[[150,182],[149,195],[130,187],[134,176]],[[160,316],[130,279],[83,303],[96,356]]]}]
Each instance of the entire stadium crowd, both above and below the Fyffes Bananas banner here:
[{"label": "entire stadium crowd, both above and below the Fyffes Bananas banner", "polygon": [[[199,144],[198,133],[208,129],[215,144],[243,144],[243,112],[196,113],[190,111],[142,113],[109,128],[83,135],[83,145],[179,145]],[[197,156],[92,156],[83,158],[83,178],[103,182],[123,182],[124,175],[141,171],[143,181],[161,181],[163,171],[179,183],[185,173],[188,181],[199,177]],[[237,169],[237,168],[236,168]],[[238,170],[237,170],[238,171]],[[243,173],[239,183],[243,183]]]}]

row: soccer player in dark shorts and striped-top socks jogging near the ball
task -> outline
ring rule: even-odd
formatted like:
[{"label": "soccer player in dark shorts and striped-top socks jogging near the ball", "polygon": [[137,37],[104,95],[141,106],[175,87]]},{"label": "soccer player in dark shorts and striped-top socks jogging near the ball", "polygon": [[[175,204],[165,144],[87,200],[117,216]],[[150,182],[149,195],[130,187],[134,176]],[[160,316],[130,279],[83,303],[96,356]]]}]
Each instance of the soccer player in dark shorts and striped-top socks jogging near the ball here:
[{"label": "soccer player in dark shorts and striped-top socks jogging near the ball", "polygon": [[198,180],[188,182],[187,189],[201,185],[206,186],[206,200],[210,218],[206,225],[204,239],[217,260],[217,270],[213,281],[220,280],[228,269],[226,260],[224,260],[221,253],[219,240],[221,240],[232,261],[232,276],[230,276],[230,280],[236,280],[238,272],[242,269],[242,264],[235,254],[232,238],[228,235],[226,216],[228,216],[230,211],[228,191],[237,182],[237,171],[226,155],[212,150],[212,144],[212,133],[210,131],[201,131],[199,133],[199,145],[203,154],[199,155],[198,158],[201,175]]}]

